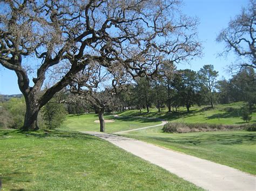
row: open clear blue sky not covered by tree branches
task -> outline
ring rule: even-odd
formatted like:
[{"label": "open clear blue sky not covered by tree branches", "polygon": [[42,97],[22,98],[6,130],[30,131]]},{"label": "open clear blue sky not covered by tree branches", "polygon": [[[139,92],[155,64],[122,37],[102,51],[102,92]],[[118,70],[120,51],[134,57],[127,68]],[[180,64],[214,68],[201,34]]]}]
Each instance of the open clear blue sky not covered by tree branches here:
[{"label": "open clear blue sky not covered by tree branches", "polygon": [[[224,48],[223,44],[215,41],[221,29],[224,29],[231,18],[238,15],[242,7],[246,7],[248,0],[183,0],[181,11],[188,16],[197,16],[200,20],[198,38],[203,44],[204,55],[194,59],[190,64],[179,65],[179,69],[199,70],[206,64],[211,64],[219,71],[219,78],[231,77],[227,66],[235,62],[235,56],[218,57]],[[0,66],[0,94],[20,94],[15,72]]]}]

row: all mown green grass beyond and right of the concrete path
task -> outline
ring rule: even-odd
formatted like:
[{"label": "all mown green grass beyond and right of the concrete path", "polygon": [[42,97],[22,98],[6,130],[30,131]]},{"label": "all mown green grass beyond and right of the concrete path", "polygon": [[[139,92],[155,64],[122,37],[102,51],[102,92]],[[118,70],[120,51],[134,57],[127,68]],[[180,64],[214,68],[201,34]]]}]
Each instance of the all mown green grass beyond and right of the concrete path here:
[{"label": "all mown green grass beyond and right of the concrete path", "polygon": [[[106,119],[116,120],[113,123],[106,123],[106,132],[112,133],[160,124],[153,119],[136,118],[137,116],[158,117],[167,121],[186,123],[244,124],[239,117],[242,104],[238,102],[216,105],[213,110],[193,107],[190,113],[187,113],[185,108],[180,108],[177,113],[157,112],[156,110],[151,110],[149,114],[145,111],[142,113],[137,110],[125,111],[119,114],[123,118],[106,115]],[[96,119],[98,118],[95,114],[69,116],[62,128],[76,131],[99,131],[99,124],[94,122]],[[256,112],[253,112],[250,123],[255,123],[255,119]],[[256,132],[220,131],[173,134],[163,133],[161,128],[162,126],[132,131],[126,133],[125,136],[256,174]]]}]

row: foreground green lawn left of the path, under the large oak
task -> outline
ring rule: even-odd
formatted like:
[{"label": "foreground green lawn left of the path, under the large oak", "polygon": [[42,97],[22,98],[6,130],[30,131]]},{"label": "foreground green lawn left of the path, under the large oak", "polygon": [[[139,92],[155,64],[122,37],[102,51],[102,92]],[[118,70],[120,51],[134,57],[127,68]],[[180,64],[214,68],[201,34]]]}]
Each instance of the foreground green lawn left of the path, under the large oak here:
[{"label": "foreground green lawn left of the path, under the large oak", "polygon": [[3,190],[200,190],[102,139],[0,130]]}]

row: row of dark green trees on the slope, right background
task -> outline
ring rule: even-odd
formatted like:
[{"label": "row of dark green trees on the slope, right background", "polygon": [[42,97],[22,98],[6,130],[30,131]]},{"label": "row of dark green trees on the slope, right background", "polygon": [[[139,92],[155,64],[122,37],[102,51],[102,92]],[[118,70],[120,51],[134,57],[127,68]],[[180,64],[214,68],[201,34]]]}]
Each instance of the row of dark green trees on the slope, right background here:
[{"label": "row of dark green trees on the slope, right background", "polygon": [[176,112],[178,107],[190,111],[192,105],[227,104],[244,101],[250,109],[256,103],[255,71],[245,67],[231,79],[217,80],[218,72],[212,65],[205,65],[198,72],[181,69],[172,76],[159,75],[155,79],[146,77],[136,79],[126,89],[116,95],[119,99],[118,110],[147,109],[167,107]]}]

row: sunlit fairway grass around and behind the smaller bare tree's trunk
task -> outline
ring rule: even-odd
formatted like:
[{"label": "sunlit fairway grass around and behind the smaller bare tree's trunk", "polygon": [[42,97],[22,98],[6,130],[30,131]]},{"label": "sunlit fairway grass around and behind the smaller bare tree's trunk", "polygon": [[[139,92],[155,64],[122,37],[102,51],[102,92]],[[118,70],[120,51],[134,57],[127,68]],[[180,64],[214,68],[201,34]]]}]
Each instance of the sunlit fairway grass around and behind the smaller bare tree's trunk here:
[{"label": "sunlit fairway grass around and behind the smaller bare tree's trunk", "polygon": [[[157,119],[134,118],[129,116],[116,118],[112,115],[105,115],[104,118],[114,120],[114,122],[105,124],[105,131],[109,133],[143,128],[145,126],[157,125],[161,123]],[[69,115],[60,129],[75,131],[99,131],[99,123],[95,123],[95,120],[98,120],[98,115],[96,114]]]}]

